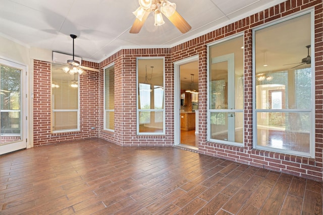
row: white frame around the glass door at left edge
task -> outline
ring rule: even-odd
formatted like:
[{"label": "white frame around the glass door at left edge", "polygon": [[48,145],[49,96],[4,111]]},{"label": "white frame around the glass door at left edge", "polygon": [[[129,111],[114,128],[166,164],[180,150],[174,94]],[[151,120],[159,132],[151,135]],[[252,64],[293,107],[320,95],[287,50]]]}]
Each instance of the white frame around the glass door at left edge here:
[{"label": "white frame around the glass door at left edge", "polygon": [[6,144],[3,146],[0,146],[0,155],[3,154],[7,154],[10,152],[14,152],[17,150],[21,150],[21,149],[26,149],[27,148],[27,144],[28,144],[28,135],[29,135],[29,131],[28,131],[28,122],[29,119],[27,117],[28,115],[28,66],[17,62],[17,61],[13,61],[11,59],[5,58],[0,56],[0,64],[9,66],[9,67],[14,67],[14,68],[18,68],[21,69],[21,140],[20,141],[16,141],[16,142],[12,142],[10,144]]}]

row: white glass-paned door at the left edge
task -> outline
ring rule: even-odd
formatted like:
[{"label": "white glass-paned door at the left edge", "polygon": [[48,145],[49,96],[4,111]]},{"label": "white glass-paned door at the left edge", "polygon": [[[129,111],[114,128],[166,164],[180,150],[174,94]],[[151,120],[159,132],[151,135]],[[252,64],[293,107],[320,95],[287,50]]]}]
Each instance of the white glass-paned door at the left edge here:
[{"label": "white glass-paned door at the left edge", "polygon": [[0,155],[26,148],[26,66],[0,58]]}]

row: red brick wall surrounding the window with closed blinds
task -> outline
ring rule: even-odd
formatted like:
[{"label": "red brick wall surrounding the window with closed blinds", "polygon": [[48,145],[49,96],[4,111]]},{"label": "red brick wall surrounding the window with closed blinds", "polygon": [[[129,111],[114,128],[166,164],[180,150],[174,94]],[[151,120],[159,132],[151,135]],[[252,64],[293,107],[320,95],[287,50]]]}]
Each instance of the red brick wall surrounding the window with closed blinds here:
[{"label": "red brick wall surrounding the window with closed blinds", "polygon": [[[98,63],[83,61],[83,65],[98,68]],[[98,74],[87,71],[80,77],[80,131],[50,132],[50,62],[34,60],[34,146],[98,137]],[[94,129],[91,129],[94,127]]]}]

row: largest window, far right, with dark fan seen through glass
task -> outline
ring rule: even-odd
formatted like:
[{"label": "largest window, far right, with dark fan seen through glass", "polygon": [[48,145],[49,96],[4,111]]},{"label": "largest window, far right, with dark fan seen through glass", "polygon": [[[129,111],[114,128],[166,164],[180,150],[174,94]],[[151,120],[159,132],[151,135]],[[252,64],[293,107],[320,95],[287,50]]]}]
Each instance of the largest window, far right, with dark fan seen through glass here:
[{"label": "largest window, far right, with dark fan seen through glass", "polygon": [[253,32],[256,149],[313,156],[311,16]]}]

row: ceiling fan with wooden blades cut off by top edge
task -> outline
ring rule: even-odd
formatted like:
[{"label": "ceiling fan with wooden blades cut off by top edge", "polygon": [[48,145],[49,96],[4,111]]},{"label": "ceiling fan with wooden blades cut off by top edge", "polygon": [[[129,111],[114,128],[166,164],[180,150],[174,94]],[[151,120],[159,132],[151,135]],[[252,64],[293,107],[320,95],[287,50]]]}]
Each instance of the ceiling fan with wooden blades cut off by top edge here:
[{"label": "ceiling fan with wooden blades cut off by top edge", "polygon": [[150,12],[154,12],[155,26],[163,25],[165,23],[163,16],[161,15],[164,14],[183,34],[192,28],[176,11],[175,3],[166,0],[139,0],[139,5],[139,8],[133,12],[136,16],[136,20],[129,31],[132,34],[139,33]]}]

